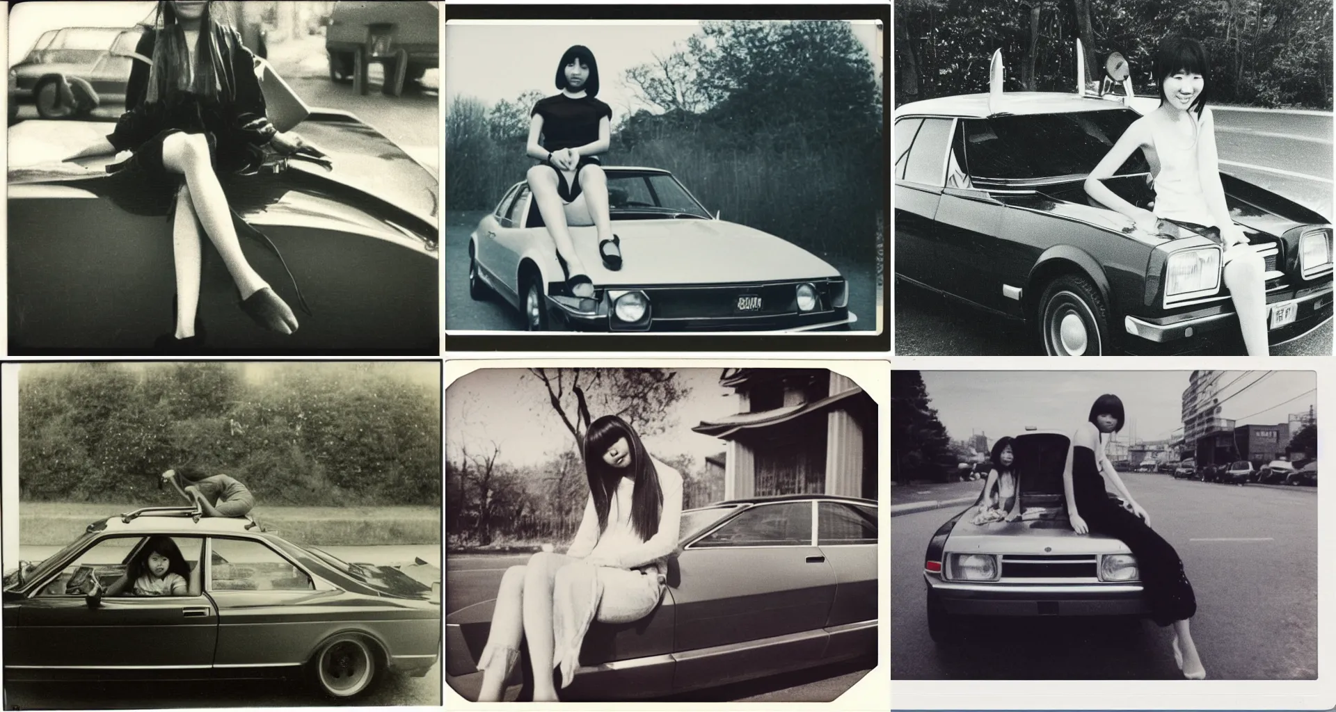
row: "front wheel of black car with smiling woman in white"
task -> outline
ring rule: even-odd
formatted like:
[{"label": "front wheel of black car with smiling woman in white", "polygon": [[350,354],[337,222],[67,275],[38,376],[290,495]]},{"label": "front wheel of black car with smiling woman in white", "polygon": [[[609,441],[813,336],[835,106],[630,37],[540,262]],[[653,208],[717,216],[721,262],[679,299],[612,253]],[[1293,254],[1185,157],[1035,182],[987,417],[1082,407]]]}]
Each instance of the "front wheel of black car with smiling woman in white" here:
[{"label": "front wheel of black car with smiling woman in white", "polygon": [[1065,274],[1039,298],[1039,341],[1047,355],[1108,355],[1109,310],[1089,279]]}]

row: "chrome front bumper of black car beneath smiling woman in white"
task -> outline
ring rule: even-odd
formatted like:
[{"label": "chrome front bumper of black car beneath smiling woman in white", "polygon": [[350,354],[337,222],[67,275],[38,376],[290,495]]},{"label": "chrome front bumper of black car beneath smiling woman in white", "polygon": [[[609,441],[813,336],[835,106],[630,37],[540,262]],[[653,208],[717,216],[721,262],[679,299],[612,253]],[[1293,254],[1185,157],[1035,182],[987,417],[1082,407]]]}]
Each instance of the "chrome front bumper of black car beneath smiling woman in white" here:
[{"label": "chrome front bumper of black car beneath smiling woman in white", "polygon": [[[1296,306],[1295,321],[1268,334],[1268,342],[1279,346],[1308,335],[1332,318],[1332,283],[1288,289],[1267,295],[1267,306],[1283,303]],[[1141,355],[1173,355],[1190,353],[1206,346],[1210,337],[1228,335],[1237,341],[1238,315],[1233,303],[1225,302],[1205,309],[1168,317],[1124,317],[1124,331],[1129,353]]]}]

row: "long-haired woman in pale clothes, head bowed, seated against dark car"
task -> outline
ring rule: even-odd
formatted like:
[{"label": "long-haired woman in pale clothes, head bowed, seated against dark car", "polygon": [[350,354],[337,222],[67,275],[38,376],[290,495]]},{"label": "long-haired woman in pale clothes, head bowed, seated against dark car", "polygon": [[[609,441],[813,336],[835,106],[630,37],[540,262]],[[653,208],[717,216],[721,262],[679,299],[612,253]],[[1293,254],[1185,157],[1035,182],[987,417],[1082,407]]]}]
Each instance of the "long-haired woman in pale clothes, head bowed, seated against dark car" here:
[{"label": "long-haired woman in pale clothes, head bowed, seated against dark car", "polygon": [[659,605],[667,558],[681,525],[681,474],[645,452],[616,415],[589,425],[584,438],[589,500],[565,554],[538,552],[501,577],[488,644],[478,656],[478,701],[501,700],[505,679],[528,641],[533,700],[556,701],[574,680],[580,645],[593,620],[632,622]]}]

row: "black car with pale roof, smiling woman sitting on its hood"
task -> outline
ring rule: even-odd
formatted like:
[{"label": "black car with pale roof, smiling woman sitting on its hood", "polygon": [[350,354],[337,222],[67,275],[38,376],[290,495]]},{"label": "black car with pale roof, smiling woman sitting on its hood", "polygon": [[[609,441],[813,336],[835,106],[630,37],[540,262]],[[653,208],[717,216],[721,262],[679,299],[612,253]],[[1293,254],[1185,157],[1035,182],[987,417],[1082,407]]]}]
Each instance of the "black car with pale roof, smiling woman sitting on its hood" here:
[{"label": "black car with pale roof, smiling woman sitting on its hood", "polygon": [[[1133,228],[1085,179],[1146,111],[1145,99],[989,94],[904,104],[895,114],[899,283],[1033,326],[1049,355],[1184,354],[1238,343],[1221,247],[1161,222]],[[1150,107],[1156,106],[1149,100]],[[1149,208],[1134,152],[1105,186]],[[1331,220],[1221,172],[1233,220],[1265,259],[1272,346],[1332,318]]]}]

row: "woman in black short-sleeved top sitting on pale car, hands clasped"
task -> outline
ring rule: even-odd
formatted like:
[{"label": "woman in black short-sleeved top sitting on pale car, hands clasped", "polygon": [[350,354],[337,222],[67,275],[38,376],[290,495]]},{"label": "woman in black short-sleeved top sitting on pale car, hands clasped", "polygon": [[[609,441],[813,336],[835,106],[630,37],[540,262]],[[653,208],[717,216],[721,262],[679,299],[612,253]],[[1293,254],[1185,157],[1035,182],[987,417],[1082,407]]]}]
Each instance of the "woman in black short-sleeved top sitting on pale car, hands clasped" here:
[{"label": "woman in black short-sleeved top sitting on pale car, hands clasped", "polygon": [[599,63],[582,44],[561,55],[556,85],[561,92],[538,100],[529,112],[525,154],[538,163],[529,168],[526,179],[557,247],[566,290],[573,297],[589,298],[593,282],[570,242],[568,226],[595,226],[604,266],[621,269],[621,238],[612,234],[608,176],[597,158],[611,146],[612,107],[596,99]]}]

